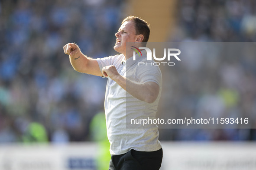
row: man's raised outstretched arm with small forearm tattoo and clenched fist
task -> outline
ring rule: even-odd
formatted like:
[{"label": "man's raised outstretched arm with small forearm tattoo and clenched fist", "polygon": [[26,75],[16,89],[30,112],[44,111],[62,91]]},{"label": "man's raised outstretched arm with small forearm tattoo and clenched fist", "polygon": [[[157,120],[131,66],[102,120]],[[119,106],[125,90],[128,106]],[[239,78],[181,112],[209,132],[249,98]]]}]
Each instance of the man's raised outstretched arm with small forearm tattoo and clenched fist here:
[{"label": "man's raised outstretched arm with small forearm tattoo and clenched fist", "polygon": [[63,50],[65,54],[69,55],[70,63],[76,71],[102,76],[97,60],[82,54],[77,44],[68,43],[63,47]]}]

